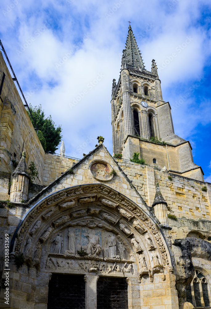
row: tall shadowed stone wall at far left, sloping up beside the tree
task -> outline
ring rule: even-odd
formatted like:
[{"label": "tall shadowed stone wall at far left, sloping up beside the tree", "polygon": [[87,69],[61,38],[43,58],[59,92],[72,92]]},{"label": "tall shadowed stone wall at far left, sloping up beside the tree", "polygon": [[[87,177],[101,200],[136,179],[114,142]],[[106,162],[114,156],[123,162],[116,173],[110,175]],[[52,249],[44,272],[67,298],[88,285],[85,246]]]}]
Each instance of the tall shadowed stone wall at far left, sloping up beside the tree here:
[{"label": "tall shadowed stone wall at far left, sloping up beside the tree", "polygon": [[[0,171],[12,172],[14,165],[26,151],[26,163],[34,162],[38,177],[35,183],[43,182],[43,165],[45,152],[34,130],[22,99],[0,53],[0,81],[5,73],[2,94],[0,98]],[[30,103],[30,102],[29,102]]]}]

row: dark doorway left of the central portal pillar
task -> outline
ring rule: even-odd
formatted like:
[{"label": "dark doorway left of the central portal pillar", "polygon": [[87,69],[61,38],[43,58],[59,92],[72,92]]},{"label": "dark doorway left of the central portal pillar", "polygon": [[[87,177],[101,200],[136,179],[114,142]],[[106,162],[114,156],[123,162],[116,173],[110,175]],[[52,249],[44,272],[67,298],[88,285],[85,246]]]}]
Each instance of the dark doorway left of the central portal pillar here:
[{"label": "dark doorway left of the central portal pillar", "polygon": [[83,276],[52,274],[47,309],[85,309]]}]

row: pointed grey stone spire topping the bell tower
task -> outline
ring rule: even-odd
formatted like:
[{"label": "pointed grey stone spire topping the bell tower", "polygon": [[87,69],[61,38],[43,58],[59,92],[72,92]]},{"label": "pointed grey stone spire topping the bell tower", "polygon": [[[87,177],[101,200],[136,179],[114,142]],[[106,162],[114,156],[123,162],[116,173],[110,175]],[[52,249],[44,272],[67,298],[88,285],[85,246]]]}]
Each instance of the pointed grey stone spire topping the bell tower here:
[{"label": "pointed grey stone spire topping the bell tower", "polygon": [[[131,26],[129,26],[128,36],[126,40],[126,48],[123,49],[123,59],[125,57],[126,64],[122,63],[122,66],[130,66],[132,69],[145,70],[144,62],[142,61],[141,53],[136,43],[135,36],[133,35]],[[122,62],[123,62],[122,59]],[[122,67],[126,69],[127,67]]]}]

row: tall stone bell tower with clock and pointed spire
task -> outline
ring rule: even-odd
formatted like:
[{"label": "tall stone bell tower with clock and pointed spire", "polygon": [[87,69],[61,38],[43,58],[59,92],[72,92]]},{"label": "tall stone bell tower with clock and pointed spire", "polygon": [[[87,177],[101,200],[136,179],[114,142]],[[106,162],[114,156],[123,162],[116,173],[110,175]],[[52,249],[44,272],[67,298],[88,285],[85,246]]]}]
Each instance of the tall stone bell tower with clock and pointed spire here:
[{"label": "tall stone bell tower with clock and pointed spire", "polygon": [[162,97],[160,83],[155,60],[147,71],[129,26],[120,78],[112,84],[113,153],[121,152],[129,160],[140,152],[148,165],[204,181],[189,141],[174,133],[171,107]]}]

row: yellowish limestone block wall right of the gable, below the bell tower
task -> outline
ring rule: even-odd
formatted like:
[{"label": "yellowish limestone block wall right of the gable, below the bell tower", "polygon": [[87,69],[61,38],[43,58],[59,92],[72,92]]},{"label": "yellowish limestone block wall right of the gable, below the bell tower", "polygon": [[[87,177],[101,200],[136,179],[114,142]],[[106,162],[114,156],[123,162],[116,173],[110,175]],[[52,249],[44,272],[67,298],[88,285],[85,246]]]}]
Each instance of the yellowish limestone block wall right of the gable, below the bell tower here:
[{"label": "yellowish limestone block wall right of the gable, below the bell tower", "polygon": [[[145,167],[124,159],[118,160],[118,164],[149,206],[153,203],[155,184],[158,182],[164,200],[168,203],[169,214],[190,219],[211,219],[210,183],[168,173],[154,167]],[[171,176],[172,180],[168,179],[168,176]],[[206,192],[201,190],[204,186],[207,187]]]}]

